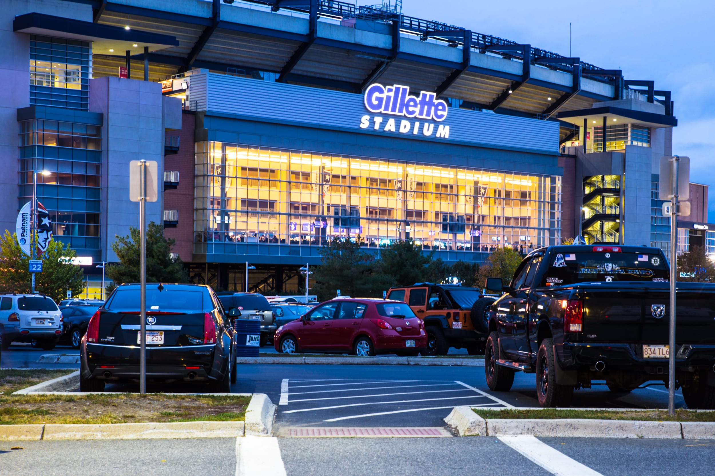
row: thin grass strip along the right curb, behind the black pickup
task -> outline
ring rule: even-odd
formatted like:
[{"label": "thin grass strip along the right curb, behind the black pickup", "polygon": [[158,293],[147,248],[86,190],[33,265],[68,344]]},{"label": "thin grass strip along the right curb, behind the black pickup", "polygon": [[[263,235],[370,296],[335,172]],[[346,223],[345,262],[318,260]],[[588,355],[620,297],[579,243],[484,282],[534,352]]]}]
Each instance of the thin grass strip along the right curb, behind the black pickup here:
[{"label": "thin grass strip along the right curb, behind the black pickup", "polygon": [[544,408],[543,410],[480,410],[474,412],[485,420],[531,419],[557,420],[561,418],[585,418],[588,420],[636,420],[650,422],[715,422],[715,412],[697,412],[695,410],[678,409],[675,415],[669,415],[668,410],[578,410],[572,408]]}]

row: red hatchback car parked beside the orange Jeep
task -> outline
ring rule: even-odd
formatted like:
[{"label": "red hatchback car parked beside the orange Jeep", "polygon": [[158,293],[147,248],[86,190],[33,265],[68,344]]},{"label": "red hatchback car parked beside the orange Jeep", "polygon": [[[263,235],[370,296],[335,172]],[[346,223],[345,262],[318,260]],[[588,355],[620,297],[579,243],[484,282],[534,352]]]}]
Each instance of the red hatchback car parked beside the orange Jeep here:
[{"label": "red hatchback car parked beside the orange Jeep", "polygon": [[275,350],[417,355],[427,347],[425,324],[410,306],[394,300],[333,299],[282,325]]}]

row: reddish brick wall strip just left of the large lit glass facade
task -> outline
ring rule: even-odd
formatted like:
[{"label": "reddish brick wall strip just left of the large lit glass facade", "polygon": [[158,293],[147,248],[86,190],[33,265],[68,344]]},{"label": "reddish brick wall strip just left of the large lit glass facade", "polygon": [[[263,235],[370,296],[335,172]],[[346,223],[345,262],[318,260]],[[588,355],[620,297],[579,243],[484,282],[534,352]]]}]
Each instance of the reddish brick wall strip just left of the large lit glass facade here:
[{"label": "reddish brick wall strip just left of the large lit glass facade", "polygon": [[179,186],[164,191],[164,210],[178,210],[179,224],[164,229],[164,236],[176,240],[173,251],[184,263],[194,260],[194,123],[194,114],[182,114],[181,131],[167,132],[167,136],[179,136],[179,153],[164,158],[166,171],[179,171]]}]

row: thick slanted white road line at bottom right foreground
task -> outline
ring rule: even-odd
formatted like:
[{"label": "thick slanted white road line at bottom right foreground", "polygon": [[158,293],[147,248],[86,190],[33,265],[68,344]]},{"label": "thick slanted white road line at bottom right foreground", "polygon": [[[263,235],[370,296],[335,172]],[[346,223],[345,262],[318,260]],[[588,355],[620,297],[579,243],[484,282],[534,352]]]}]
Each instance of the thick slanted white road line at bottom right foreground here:
[{"label": "thick slanted white road line at bottom right foreground", "polygon": [[557,476],[603,476],[533,436],[500,436],[499,440]]}]

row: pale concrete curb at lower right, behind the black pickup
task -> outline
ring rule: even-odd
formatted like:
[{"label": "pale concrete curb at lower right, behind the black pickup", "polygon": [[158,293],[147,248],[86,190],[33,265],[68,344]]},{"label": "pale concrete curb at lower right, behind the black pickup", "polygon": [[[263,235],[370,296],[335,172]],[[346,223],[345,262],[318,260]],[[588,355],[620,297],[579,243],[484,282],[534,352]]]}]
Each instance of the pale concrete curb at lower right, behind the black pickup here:
[{"label": "pale concrete curb at lower right, behind the black pickup", "polygon": [[672,440],[713,440],[715,422],[651,422],[637,420],[591,420],[563,418],[555,420],[502,419],[485,420],[471,407],[454,407],[444,419],[460,436],[598,437],[648,438]]}]

